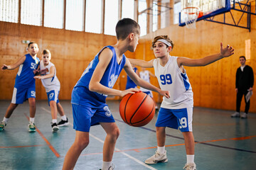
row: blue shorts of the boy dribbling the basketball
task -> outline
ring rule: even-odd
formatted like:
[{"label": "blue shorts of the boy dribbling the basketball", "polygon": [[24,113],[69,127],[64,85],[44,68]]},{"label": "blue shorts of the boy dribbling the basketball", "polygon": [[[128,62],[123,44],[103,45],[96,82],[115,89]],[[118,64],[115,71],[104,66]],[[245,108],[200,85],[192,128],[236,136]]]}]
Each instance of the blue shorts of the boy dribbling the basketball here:
[{"label": "blue shorts of the boy dribbling the basketball", "polygon": [[106,103],[94,106],[87,103],[86,106],[72,103],[73,128],[82,132],[90,132],[90,127],[100,123],[114,123],[114,117]]}]

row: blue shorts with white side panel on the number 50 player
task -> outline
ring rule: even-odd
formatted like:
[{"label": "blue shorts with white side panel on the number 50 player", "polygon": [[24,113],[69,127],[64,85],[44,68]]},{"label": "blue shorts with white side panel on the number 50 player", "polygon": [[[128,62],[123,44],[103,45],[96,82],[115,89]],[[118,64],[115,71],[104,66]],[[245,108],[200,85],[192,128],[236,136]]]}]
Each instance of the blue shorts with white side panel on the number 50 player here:
[{"label": "blue shorts with white side panel on the number 50 player", "polygon": [[14,87],[11,103],[22,104],[28,98],[36,98],[36,86],[31,87]]}]

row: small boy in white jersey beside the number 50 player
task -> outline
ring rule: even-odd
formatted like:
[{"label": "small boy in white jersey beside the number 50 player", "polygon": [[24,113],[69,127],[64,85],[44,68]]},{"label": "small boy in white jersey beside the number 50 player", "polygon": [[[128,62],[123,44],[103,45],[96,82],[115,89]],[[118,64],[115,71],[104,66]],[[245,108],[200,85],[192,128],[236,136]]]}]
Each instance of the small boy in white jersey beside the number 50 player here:
[{"label": "small boy in white jersey beside the number 50 player", "polygon": [[[40,62],[41,75],[35,76],[35,79],[41,79],[43,86],[46,89],[48,97],[48,104],[50,106],[50,112],[52,115],[52,131],[58,132],[58,126],[68,125],[68,118],[66,117],[63,107],[60,105],[58,95],[60,93],[60,81],[56,76],[55,65],[50,62],[51,54],[50,50],[43,50],[42,60]],[[61,121],[57,124],[57,113],[60,113]]]}]

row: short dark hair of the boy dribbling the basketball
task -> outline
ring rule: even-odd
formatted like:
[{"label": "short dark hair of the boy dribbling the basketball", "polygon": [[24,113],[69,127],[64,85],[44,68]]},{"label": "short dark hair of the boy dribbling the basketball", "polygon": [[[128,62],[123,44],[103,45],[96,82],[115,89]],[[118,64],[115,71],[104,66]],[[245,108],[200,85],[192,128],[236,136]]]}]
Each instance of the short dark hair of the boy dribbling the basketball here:
[{"label": "short dark hair of the boy dribbling the basketball", "polygon": [[115,28],[117,40],[124,40],[130,33],[140,34],[139,24],[131,18],[122,18]]}]

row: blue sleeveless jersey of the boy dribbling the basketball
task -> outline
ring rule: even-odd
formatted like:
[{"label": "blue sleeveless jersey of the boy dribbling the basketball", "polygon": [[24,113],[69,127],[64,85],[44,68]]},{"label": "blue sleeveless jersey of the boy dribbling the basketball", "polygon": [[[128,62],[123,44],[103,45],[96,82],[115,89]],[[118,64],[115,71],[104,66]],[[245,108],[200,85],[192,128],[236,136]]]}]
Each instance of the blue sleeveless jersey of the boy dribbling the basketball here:
[{"label": "blue sleeveless jersey of the boy dribbling the basketball", "polygon": [[[104,50],[105,48],[106,47],[103,47],[102,50]],[[126,62],[126,57],[122,55],[122,60],[120,64],[118,64],[117,55],[114,50],[114,47],[107,46],[107,48],[112,50],[113,56],[112,56],[112,59],[110,60],[110,64],[107,66],[107,69],[105,70],[105,73],[102,76],[102,79],[100,80],[100,84],[112,89],[115,82],[117,81],[117,78],[120,72],[124,67],[124,64]],[[95,56],[94,60],[90,62],[88,67],[82,73],[82,76],[78,80],[78,83],[75,84],[74,89],[76,89],[77,91],[82,91],[82,94],[80,92],[73,93],[73,96],[71,98],[71,103],[85,105],[83,102],[83,99],[87,99],[92,103],[97,103],[97,101],[105,103],[107,95],[99,94],[97,92],[89,90],[90,79],[92,78],[92,74],[95,68],[97,67],[97,64],[99,63],[99,55],[102,52],[102,50],[100,50],[100,52]]]}]

